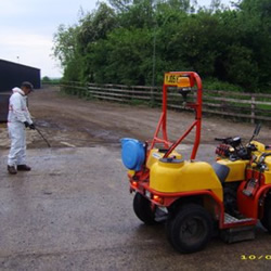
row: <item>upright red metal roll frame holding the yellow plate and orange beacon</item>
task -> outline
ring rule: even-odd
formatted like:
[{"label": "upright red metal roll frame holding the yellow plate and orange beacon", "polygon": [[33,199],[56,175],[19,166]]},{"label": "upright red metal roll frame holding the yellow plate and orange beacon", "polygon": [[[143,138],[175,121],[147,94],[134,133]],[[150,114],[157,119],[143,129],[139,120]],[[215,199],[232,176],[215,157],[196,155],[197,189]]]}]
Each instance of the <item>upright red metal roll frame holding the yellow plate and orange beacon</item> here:
[{"label": "upright red metal roll frame holding the yellow plate and orange beacon", "polygon": [[[164,147],[168,149],[167,153],[164,155],[164,157],[168,157],[168,155],[183,141],[184,138],[188,137],[188,134],[193,130],[193,128],[196,128],[195,132],[195,141],[194,146],[191,153],[191,159],[195,159],[196,152],[199,145],[201,141],[201,129],[202,129],[202,104],[203,104],[203,85],[199,76],[194,72],[171,72],[166,73],[171,75],[180,75],[185,76],[190,78],[191,86],[193,87],[196,83],[197,91],[196,91],[196,102],[195,103],[188,103],[186,106],[190,108],[195,109],[195,121],[192,124],[192,126],[173,143],[171,144],[168,141],[167,137],[167,88],[168,87],[176,87],[176,85],[163,85],[163,107],[162,107],[162,115],[158,121],[158,125],[156,127],[153,141],[151,142],[151,150],[155,146],[156,143],[164,143]],[[158,138],[158,134],[162,130],[163,138]],[[170,145],[170,146],[169,146]]]}]

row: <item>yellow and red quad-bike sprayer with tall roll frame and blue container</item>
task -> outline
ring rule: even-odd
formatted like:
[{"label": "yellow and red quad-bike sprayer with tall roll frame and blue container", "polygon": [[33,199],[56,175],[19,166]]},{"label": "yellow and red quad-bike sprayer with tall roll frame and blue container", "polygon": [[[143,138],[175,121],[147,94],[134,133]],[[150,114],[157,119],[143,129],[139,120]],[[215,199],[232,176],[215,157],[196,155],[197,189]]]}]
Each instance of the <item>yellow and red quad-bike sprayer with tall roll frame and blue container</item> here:
[{"label": "yellow and red quad-bike sprayer with tall roll frame and blue container", "polygon": [[[175,142],[167,136],[168,90],[177,90],[195,112],[195,119]],[[214,165],[195,160],[201,139],[202,80],[193,72],[166,73],[163,111],[151,141],[121,140],[121,157],[129,169],[133,209],[146,224],[166,221],[169,243],[180,253],[203,249],[214,233],[227,243],[255,237],[258,220],[271,233],[271,150],[240,137],[217,139]],[[178,145],[194,131],[191,157],[184,160]]]}]

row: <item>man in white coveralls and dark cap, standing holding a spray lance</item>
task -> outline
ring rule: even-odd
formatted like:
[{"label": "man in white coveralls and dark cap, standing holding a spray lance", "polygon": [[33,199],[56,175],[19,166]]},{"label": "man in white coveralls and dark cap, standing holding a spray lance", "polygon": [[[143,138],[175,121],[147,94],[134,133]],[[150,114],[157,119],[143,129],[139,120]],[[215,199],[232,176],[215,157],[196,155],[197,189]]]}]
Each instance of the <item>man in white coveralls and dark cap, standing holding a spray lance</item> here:
[{"label": "man in white coveralls and dark cap, standing holding a spray lance", "polygon": [[17,170],[31,170],[25,163],[25,128],[35,129],[26,102],[26,96],[33,91],[33,85],[25,81],[22,83],[21,89],[13,88],[12,91],[8,115],[8,128],[11,139],[8,171],[11,175],[16,175]]}]

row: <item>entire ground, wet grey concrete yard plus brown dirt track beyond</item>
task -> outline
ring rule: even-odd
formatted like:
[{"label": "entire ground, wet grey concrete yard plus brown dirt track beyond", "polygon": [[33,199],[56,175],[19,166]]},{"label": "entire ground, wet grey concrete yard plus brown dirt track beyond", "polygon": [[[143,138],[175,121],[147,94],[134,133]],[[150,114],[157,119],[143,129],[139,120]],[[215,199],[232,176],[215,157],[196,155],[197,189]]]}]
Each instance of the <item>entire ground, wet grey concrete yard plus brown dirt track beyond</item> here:
[{"label": "entire ground, wet grey concrete yard plus brown dirt track beyond", "polygon": [[[164,225],[146,227],[134,216],[118,140],[151,138],[158,109],[44,90],[30,98],[30,109],[53,147],[29,131],[33,170],[9,176],[9,141],[0,131],[0,270],[270,270],[271,235],[260,227],[255,241],[227,245],[215,237],[204,251],[179,255]],[[169,118],[175,122],[179,114]],[[188,114],[183,122],[192,118]],[[218,122],[204,124],[211,138],[203,134],[198,159],[214,159],[215,136],[247,137],[253,130]],[[172,136],[181,124],[172,125]],[[269,128],[261,132],[268,141]],[[182,145],[184,156],[189,150]]]}]

